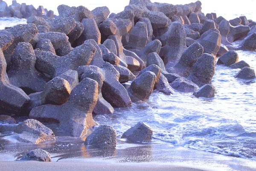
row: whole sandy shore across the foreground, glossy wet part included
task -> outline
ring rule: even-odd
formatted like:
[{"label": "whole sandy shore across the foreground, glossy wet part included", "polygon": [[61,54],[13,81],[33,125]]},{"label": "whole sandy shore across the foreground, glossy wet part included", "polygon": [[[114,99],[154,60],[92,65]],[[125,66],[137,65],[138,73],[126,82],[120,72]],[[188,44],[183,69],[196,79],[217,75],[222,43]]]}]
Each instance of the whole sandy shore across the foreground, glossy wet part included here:
[{"label": "whole sandy shore across the foreground, glossy wet part included", "polygon": [[[25,153],[27,151],[24,151]],[[51,152],[52,162],[15,161],[21,154],[0,154],[0,170],[65,171],[81,170],[148,170],[148,171],[216,171],[256,170],[256,160],[215,154],[207,151],[186,149],[167,144],[145,146],[117,146],[115,150],[83,149],[70,153]],[[3,161],[4,160],[4,161]],[[42,170],[44,168],[44,170]],[[71,168],[71,169],[70,169]]]}]

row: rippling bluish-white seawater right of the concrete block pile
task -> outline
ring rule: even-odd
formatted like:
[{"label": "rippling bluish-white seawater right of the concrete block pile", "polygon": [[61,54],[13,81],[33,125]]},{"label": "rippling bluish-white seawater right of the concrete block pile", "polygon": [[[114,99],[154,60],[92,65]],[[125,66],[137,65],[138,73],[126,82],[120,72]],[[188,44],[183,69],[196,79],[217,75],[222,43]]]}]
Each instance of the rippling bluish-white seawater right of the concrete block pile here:
[{"label": "rippling bluish-white seawater right of the concrete block pile", "polygon": [[[256,66],[256,53],[239,51],[239,60]],[[153,143],[163,141],[218,154],[256,157],[256,78],[234,78],[238,71],[216,66],[212,79],[217,89],[215,98],[156,92],[145,103],[116,109],[111,116],[97,115],[95,120],[114,126],[119,137],[143,121],[154,130]]]}]

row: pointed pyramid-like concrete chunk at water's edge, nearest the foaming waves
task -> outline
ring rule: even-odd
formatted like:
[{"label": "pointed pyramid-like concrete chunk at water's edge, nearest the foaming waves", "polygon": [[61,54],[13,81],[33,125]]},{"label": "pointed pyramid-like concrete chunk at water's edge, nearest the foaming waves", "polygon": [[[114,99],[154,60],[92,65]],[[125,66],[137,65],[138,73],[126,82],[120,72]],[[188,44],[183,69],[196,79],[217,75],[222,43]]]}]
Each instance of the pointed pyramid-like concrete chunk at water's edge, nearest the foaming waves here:
[{"label": "pointed pyramid-like concrete chunk at water's edge, nearest the foaming waves", "polygon": [[143,122],[137,123],[135,126],[128,129],[121,138],[136,142],[145,142],[152,139],[153,130]]}]

